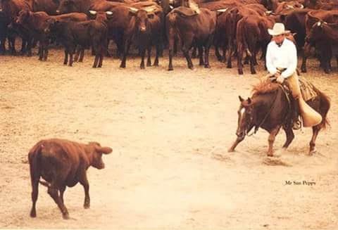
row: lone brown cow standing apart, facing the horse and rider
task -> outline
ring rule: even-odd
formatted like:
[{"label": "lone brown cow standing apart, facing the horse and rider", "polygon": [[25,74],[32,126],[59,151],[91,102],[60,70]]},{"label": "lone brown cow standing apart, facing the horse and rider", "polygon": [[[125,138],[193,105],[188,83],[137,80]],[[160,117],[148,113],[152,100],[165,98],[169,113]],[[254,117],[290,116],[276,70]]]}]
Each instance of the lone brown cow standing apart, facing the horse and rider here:
[{"label": "lone brown cow standing apart, facing the horse and rider", "polygon": [[[104,169],[102,154],[112,151],[109,147],[101,147],[97,142],[84,144],[64,139],[47,139],[37,142],[28,153],[32,182],[30,216],[37,216],[35,205],[39,193],[39,182],[48,187],[48,193],[61,210],[63,219],[69,219],[68,210],[63,203],[66,186],[73,187],[80,182],[84,187],[84,208],[89,208],[87,169],[89,166],[99,170]],[[40,177],[44,181],[40,181]]]}]

